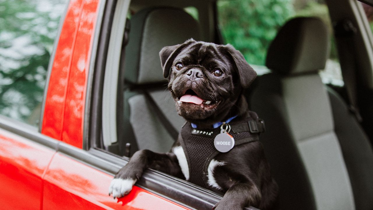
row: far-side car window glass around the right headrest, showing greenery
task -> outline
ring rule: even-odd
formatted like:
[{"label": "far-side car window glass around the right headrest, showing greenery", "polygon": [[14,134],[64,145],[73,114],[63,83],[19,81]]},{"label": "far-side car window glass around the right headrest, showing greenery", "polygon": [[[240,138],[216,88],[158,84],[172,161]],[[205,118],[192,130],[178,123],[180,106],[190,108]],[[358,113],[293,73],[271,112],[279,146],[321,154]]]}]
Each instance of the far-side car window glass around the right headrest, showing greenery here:
[{"label": "far-side car window glass around the right headrest, showing greenery", "polygon": [[[267,49],[279,28],[289,19],[319,17],[332,34],[328,9],[321,0],[218,0],[217,12],[225,43],[240,50],[259,75],[269,72],[264,67]],[[333,37],[331,43],[330,58],[320,75],[324,83],[341,86],[343,81]]]}]

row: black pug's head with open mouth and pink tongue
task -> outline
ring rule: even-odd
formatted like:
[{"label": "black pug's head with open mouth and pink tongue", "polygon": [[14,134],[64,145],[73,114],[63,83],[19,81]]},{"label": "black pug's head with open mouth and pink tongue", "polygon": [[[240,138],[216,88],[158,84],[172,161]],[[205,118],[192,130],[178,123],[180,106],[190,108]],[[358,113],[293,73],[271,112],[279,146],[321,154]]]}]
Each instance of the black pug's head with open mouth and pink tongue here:
[{"label": "black pug's head with open mouth and pink tongue", "polygon": [[187,121],[212,124],[247,110],[242,89],[256,72],[230,44],[189,39],[163,47],[159,55],[176,109]]}]

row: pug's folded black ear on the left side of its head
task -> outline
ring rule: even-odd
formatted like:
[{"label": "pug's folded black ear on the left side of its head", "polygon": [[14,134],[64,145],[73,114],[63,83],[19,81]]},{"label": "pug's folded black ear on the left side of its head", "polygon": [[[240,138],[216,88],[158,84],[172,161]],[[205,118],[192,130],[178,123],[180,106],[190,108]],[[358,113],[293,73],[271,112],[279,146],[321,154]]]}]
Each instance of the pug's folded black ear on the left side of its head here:
[{"label": "pug's folded black ear on the left side of its head", "polygon": [[194,39],[190,38],[186,40],[183,44],[176,44],[174,46],[163,47],[159,52],[159,57],[161,59],[161,64],[163,68],[163,77],[168,78],[170,75],[170,68],[173,60],[179,53],[189,44],[196,42]]}]

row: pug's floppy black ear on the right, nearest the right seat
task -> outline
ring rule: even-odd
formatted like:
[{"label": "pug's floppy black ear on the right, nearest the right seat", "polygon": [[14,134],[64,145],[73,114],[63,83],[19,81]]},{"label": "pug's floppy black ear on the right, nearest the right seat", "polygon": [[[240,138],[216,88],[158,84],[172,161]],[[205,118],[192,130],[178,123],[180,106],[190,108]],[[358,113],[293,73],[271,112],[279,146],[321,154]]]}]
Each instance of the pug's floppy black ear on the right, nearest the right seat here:
[{"label": "pug's floppy black ear on the right, nearest the right seat", "polygon": [[225,47],[232,56],[241,86],[243,88],[249,87],[256,78],[256,71],[246,62],[242,53],[236,50],[231,44],[227,44]]}]

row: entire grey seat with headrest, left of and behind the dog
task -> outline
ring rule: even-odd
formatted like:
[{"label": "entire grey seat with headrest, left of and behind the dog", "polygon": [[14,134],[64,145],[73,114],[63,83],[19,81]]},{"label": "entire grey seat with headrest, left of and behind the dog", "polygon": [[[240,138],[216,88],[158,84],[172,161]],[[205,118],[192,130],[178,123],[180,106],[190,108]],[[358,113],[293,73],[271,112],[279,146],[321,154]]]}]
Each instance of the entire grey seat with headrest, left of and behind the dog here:
[{"label": "entire grey seat with headrest, left of and behind the dog", "polygon": [[[152,111],[144,91],[154,99],[176,130],[184,119],[178,115],[167,88],[159,58],[164,46],[200,40],[198,22],[182,9],[156,7],[135,13],[131,18],[129,42],[124,56],[124,136],[131,154],[138,149],[167,152],[175,139]],[[132,135],[131,135],[132,134]]]}]

